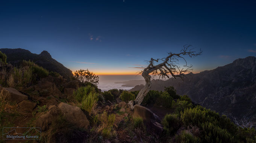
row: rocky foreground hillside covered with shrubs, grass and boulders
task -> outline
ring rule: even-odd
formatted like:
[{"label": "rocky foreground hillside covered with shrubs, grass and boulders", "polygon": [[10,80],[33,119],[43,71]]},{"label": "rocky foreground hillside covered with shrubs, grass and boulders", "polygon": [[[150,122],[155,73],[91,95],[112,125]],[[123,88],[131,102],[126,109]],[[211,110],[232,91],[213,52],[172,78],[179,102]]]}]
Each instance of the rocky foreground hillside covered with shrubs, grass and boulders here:
[{"label": "rocky foreground hillside covered with shrubs, grass and boulders", "polygon": [[42,130],[40,140],[19,142],[256,142],[253,127],[238,127],[227,116],[193,103],[186,95],[179,96],[173,87],[150,90],[142,106],[130,110],[127,102],[139,91],[101,92],[95,84],[75,78],[69,81],[31,61],[23,60],[17,67],[3,61],[1,57],[1,130],[17,126]]}]

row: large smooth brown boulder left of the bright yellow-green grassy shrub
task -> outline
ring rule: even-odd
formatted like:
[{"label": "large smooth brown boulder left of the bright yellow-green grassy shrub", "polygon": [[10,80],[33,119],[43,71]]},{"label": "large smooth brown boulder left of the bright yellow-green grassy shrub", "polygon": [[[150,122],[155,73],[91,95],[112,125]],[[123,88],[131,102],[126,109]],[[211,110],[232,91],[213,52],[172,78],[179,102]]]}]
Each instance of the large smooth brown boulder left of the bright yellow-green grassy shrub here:
[{"label": "large smooth brown boulder left of the bright yellow-green grassy shrub", "polygon": [[61,102],[58,105],[58,108],[61,110],[62,114],[66,116],[67,121],[73,123],[77,127],[87,128],[90,124],[86,115],[79,107],[71,106],[67,103]]}]

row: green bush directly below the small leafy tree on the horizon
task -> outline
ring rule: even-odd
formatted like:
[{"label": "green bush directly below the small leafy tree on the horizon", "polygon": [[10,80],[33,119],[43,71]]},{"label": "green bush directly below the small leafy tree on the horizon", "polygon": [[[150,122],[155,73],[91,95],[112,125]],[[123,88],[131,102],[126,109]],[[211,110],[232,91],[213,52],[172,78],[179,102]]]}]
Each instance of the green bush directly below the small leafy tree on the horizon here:
[{"label": "green bush directly below the small leafy tree on the horizon", "polygon": [[90,92],[96,92],[95,87],[88,85],[86,87],[80,87],[76,91],[74,91],[74,99],[77,102],[82,102],[84,96],[88,96]]}]

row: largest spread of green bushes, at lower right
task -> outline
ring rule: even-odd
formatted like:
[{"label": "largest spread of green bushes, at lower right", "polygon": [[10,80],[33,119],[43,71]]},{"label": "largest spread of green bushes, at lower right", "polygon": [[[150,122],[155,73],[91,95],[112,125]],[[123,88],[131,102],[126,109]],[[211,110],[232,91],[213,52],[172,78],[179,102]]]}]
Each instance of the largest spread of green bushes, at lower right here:
[{"label": "largest spread of green bushes, at lower right", "polygon": [[[202,106],[186,108],[181,113],[184,125],[196,125],[202,130],[204,142],[229,142],[235,140],[237,127],[226,116],[220,116],[215,111],[205,109]],[[235,136],[235,137],[234,137]],[[239,139],[240,140],[240,139]]]}]

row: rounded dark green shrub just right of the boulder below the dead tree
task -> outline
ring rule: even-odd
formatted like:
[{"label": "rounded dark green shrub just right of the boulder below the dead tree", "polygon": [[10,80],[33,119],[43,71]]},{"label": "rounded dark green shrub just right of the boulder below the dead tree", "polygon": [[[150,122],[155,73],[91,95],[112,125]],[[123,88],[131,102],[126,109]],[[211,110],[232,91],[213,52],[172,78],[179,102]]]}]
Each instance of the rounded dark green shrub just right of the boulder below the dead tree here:
[{"label": "rounded dark green shrub just right of the boulder below the dead tree", "polygon": [[180,127],[180,119],[177,114],[166,114],[162,125],[166,134],[174,134]]}]

